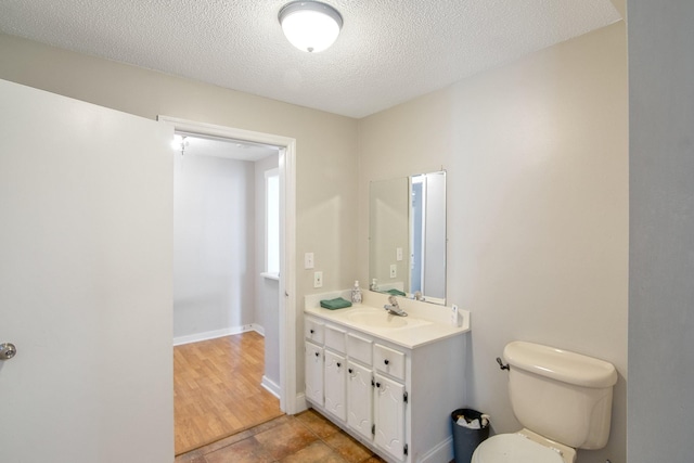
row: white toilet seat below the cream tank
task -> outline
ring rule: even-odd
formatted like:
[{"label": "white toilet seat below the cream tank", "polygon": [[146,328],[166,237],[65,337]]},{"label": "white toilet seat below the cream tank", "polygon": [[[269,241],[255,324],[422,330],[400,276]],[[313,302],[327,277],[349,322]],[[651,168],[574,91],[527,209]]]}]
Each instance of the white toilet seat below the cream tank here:
[{"label": "white toilet seat below the cream tank", "polygon": [[566,463],[566,460],[556,449],[522,434],[498,434],[477,447],[472,463]]}]

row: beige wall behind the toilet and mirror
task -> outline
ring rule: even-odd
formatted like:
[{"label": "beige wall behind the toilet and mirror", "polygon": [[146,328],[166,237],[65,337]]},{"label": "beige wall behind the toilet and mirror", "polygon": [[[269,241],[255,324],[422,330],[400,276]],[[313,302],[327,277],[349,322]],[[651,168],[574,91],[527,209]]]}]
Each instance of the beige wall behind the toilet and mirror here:
[{"label": "beige wall behind the toilet and mirror", "polygon": [[369,181],[447,169],[448,300],[472,311],[467,404],[494,432],[519,428],[506,343],[617,366],[609,443],[580,463],[626,461],[626,59],[618,23],[359,123],[361,278]]}]

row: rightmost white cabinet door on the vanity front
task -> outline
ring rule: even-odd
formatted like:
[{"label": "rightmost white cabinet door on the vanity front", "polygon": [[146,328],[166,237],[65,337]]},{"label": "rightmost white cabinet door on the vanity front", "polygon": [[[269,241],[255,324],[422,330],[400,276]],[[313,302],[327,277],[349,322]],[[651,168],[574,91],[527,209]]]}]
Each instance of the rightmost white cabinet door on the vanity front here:
[{"label": "rightmost white cabinet door on the vanity front", "polygon": [[375,442],[393,456],[404,458],[404,386],[374,375]]}]

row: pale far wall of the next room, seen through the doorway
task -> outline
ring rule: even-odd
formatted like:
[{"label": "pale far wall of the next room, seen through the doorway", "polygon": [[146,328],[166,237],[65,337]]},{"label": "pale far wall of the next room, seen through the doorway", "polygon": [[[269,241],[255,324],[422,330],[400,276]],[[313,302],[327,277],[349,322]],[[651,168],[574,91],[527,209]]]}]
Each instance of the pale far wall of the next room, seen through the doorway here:
[{"label": "pale far wall of the next room, seen through the doorway", "polygon": [[254,163],[171,153],[174,337],[255,322]]}]

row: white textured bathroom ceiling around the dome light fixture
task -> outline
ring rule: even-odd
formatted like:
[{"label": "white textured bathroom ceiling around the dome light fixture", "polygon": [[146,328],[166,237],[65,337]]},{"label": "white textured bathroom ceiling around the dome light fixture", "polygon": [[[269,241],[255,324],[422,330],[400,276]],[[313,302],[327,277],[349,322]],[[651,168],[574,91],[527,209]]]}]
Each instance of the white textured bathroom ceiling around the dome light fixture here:
[{"label": "white textured bathroom ceiling around the dome light fixture", "polygon": [[1,0],[0,31],[363,117],[619,21],[609,0],[324,0],[335,44],[294,49],[288,0]]}]

